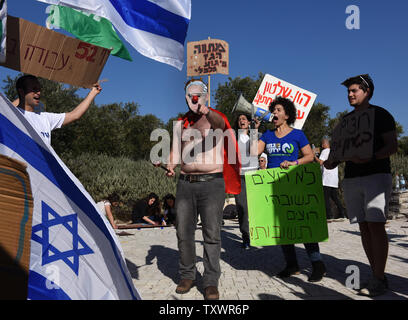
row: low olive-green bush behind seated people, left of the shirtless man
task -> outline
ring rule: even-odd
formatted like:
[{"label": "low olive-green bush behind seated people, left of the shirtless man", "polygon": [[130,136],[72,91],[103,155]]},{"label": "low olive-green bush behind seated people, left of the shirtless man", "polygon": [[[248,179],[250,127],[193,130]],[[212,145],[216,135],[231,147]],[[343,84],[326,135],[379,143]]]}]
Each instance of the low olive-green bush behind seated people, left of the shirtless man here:
[{"label": "low olive-green bush behind seated people, left of the shirtless man", "polygon": [[155,168],[146,160],[134,161],[126,157],[92,153],[79,156],[64,153],[61,159],[96,202],[113,193],[119,195],[123,206],[114,210],[113,214],[120,220],[129,220],[132,202],[150,192],[160,198],[167,193],[175,195],[176,192],[176,179],[166,177],[162,169]]}]

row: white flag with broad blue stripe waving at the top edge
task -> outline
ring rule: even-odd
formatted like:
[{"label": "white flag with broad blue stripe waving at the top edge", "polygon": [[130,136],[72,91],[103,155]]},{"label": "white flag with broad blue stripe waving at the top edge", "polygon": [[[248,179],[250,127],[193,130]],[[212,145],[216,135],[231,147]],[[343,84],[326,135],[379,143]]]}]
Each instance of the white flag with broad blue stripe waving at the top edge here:
[{"label": "white flag with broad blue stripe waving at the top edge", "polygon": [[191,0],[38,0],[104,17],[139,53],[181,70]]}]

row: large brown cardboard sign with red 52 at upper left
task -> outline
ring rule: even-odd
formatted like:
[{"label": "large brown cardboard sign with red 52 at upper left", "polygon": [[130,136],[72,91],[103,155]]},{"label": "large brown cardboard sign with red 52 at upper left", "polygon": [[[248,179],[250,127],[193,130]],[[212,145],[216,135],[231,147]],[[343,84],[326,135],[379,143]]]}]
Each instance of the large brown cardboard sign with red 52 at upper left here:
[{"label": "large brown cardboard sign with red 52 at upper left", "polygon": [[7,56],[0,65],[90,88],[98,81],[109,53],[108,49],[8,16]]}]

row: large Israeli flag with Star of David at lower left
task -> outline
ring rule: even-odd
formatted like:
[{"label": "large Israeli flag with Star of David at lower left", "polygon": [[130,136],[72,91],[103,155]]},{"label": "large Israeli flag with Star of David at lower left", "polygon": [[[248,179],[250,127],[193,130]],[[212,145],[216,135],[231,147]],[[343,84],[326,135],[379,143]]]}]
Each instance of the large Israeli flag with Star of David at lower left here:
[{"label": "large Israeli flag with Star of David at lower left", "polygon": [[109,222],[0,93],[0,154],[27,164],[33,206],[28,299],[141,299]]}]

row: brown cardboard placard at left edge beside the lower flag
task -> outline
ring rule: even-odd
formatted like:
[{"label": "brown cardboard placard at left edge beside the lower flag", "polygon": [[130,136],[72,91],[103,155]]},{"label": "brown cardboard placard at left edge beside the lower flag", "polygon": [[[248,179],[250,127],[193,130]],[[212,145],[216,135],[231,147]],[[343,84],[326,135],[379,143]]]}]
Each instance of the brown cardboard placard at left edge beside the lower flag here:
[{"label": "brown cardboard placard at left edge beside the lower flag", "polygon": [[0,299],[26,299],[33,198],[26,166],[0,155]]}]

